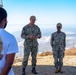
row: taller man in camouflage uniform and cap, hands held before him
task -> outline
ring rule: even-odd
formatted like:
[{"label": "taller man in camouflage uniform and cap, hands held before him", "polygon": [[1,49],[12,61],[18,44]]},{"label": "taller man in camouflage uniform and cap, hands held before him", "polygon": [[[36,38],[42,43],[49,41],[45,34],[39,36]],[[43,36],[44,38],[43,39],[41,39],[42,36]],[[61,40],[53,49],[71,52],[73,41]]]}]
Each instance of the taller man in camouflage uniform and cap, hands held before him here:
[{"label": "taller man in camouflage uniform and cap, hands held before him", "polygon": [[36,72],[36,56],[38,52],[38,42],[37,39],[41,38],[40,28],[35,25],[35,16],[30,17],[30,23],[23,27],[21,37],[25,39],[24,41],[24,58],[22,62],[22,75],[25,75],[25,68],[28,64],[28,57],[31,52],[32,56],[32,73]]}]

